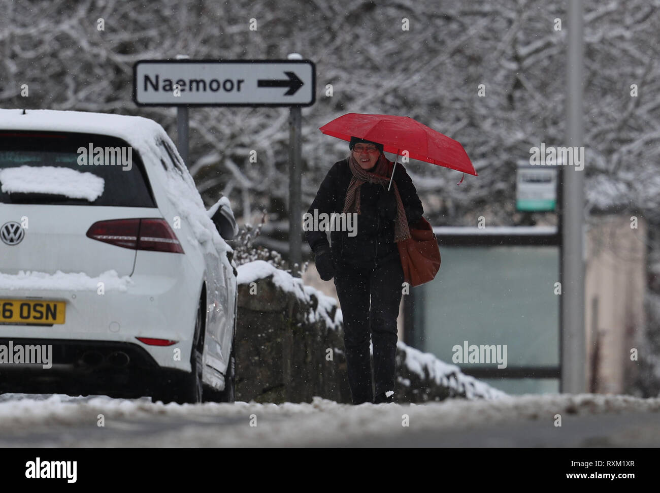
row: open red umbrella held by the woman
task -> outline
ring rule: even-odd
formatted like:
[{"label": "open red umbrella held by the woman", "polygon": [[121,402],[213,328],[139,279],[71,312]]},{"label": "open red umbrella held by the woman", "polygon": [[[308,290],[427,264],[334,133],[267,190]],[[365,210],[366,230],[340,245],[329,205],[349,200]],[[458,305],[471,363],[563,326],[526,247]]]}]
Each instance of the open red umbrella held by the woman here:
[{"label": "open red umbrella held by the woman", "polygon": [[384,150],[397,154],[394,166],[399,154],[407,150],[413,159],[479,176],[459,142],[409,116],[348,113],[319,127],[319,130],[345,141],[355,136],[382,144]]}]

